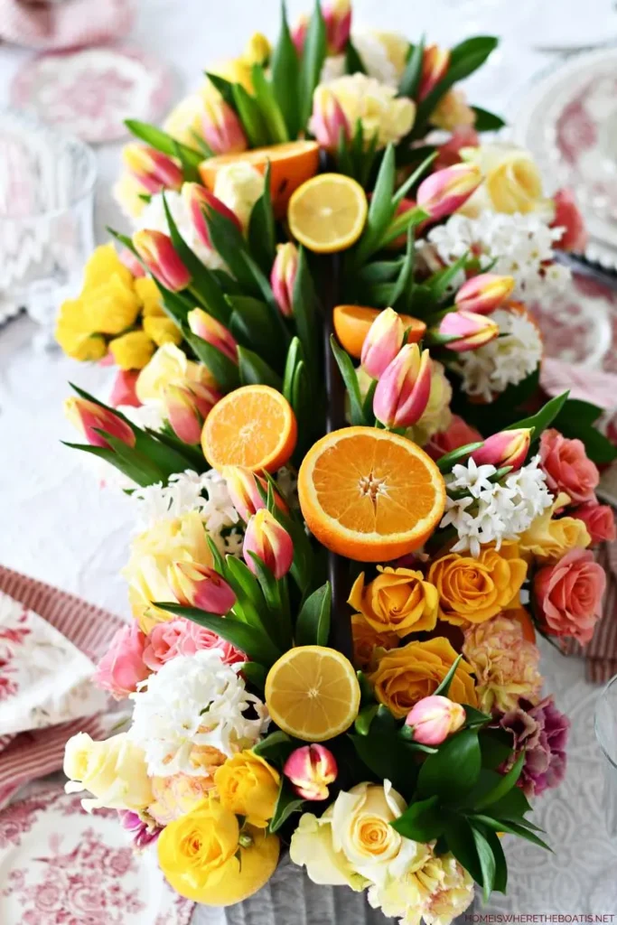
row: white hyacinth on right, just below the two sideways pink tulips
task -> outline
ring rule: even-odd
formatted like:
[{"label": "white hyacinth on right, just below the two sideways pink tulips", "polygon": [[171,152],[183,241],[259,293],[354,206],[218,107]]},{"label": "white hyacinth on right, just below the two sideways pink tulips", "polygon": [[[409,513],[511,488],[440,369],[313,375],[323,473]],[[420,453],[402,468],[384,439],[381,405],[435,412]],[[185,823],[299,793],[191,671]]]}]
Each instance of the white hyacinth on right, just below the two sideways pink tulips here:
[{"label": "white hyacinth on right, just below the two sideways pink tulips", "polygon": [[495,392],[523,382],[542,359],[542,339],[526,314],[499,308],[491,314],[500,337],[477,350],[459,353],[454,369],[463,377],[461,388],[468,395],[492,401]]}]

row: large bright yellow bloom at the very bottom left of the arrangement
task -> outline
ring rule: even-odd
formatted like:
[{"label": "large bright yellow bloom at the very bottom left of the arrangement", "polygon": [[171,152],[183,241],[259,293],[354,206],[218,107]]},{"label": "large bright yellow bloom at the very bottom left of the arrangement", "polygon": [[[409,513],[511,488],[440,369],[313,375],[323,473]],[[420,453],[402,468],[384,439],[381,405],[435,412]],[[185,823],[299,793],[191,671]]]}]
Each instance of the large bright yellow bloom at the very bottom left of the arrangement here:
[{"label": "large bright yellow bloom at the very bottom left of the arrangement", "polygon": [[278,838],[246,825],[207,796],[170,822],[157,842],[167,881],[182,896],[208,906],[230,906],[256,893],[278,862]]}]

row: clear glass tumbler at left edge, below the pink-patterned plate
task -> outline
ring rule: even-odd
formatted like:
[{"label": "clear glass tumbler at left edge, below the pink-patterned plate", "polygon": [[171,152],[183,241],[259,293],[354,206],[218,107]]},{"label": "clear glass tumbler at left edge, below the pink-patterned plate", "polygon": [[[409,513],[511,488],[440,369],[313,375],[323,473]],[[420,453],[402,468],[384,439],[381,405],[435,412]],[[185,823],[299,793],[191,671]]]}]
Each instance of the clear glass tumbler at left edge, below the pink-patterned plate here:
[{"label": "clear glass tumbler at left edge, below the pink-patterned plate", "polygon": [[0,109],[0,321],[25,308],[53,330],[93,249],[91,148],[15,109]]}]

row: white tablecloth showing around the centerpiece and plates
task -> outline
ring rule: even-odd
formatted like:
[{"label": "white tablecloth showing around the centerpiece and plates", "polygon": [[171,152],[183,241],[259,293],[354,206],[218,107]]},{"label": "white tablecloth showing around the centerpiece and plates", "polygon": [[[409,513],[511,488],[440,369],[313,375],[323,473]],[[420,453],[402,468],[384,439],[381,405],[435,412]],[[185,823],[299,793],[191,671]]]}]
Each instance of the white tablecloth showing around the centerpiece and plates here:
[{"label": "white tablecloth showing around the centerpiece and plates", "polygon": [[[308,3],[290,2],[291,17],[304,6]],[[474,103],[512,119],[525,84],[555,62],[554,55],[531,47],[532,37],[537,45],[548,43],[550,32],[546,17],[537,19],[537,6],[533,0],[355,0],[354,15],[361,26],[378,23],[382,30],[402,31],[410,38],[426,31],[439,43],[455,43],[480,32],[500,34],[500,50],[469,81],[469,95]],[[606,4],[547,0],[543,13],[547,8],[559,12],[572,33],[577,24],[584,31],[589,10],[599,6],[604,9]],[[278,0],[225,0],[220,5],[214,0],[142,0],[128,38],[169,63],[179,97],[199,82],[207,63],[238,54],[252,31],[275,35],[278,8]],[[29,54],[0,47],[0,104],[10,77]],[[97,149],[100,240],[105,225],[124,225],[110,194],[118,154],[118,145]],[[60,443],[74,438],[61,407],[68,380],[103,397],[113,373],[76,364],[59,351],[37,351],[34,332],[25,317],[0,330],[0,561],[128,617],[119,571],[128,557],[133,502],[113,487],[102,487],[102,470],[85,454]],[[566,780],[537,801],[535,820],[547,830],[554,854],[506,837],[508,894],[495,894],[483,911],[616,912],[600,897],[600,871],[617,862],[617,845],[611,845],[603,825],[602,762],[593,734],[598,689],[586,684],[579,660],[564,659],[544,644],[542,656],[546,690],[554,691],[558,706],[573,722]]]}]

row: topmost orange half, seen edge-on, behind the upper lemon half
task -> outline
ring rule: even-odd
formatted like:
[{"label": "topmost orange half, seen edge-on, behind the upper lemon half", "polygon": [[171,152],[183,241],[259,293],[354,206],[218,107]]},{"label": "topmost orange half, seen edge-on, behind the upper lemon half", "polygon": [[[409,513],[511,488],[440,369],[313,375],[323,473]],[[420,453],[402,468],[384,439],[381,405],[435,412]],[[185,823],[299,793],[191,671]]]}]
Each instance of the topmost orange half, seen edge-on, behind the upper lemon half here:
[{"label": "topmost orange half, seen edge-on, behind the upper lemon half", "polygon": [[265,173],[265,166],[270,162],[270,191],[272,203],[277,216],[285,215],[290,195],[302,183],[315,177],[319,166],[319,145],[317,142],[285,142],[270,144],[265,148],[253,148],[240,154],[218,154],[208,157],[199,166],[204,186],[213,191],[216,183],[216,171],[226,164],[246,161],[260,173]]}]

